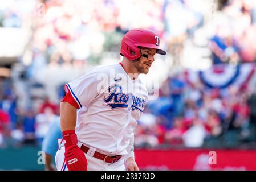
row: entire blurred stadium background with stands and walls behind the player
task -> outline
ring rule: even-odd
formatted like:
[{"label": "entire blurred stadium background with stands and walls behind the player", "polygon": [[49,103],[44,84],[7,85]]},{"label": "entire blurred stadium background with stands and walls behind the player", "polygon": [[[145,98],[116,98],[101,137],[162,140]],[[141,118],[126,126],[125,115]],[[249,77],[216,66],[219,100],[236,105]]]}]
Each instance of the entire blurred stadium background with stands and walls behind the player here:
[{"label": "entire blurred stadium background with stands and walls behind the player", "polygon": [[138,27],[168,52],[141,76],[160,88],[136,129],[140,169],[256,170],[255,0],[0,1],[1,170],[44,169],[63,85],[118,63]]}]

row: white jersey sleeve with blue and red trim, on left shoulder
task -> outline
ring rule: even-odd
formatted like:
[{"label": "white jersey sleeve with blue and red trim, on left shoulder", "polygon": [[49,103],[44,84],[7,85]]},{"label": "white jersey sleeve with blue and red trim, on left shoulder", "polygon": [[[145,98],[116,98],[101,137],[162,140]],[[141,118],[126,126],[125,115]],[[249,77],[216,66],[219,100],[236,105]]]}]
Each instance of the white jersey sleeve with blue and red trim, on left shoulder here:
[{"label": "white jersey sleeve with blue and red trim, on left shoulder", "polygon": [[71,95],[72,99],[78,105],[78,109],[90,104],[99,95],[100,80],[97,79],[97,75],[99,74],[99,69],[92,69],[64,86],[66,94],[69,93]]}]

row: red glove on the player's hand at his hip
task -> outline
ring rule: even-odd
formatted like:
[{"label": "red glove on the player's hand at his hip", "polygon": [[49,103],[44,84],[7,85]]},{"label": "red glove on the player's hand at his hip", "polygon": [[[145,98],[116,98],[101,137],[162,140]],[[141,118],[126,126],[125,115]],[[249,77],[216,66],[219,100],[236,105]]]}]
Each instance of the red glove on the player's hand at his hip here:
[{"label": "red glove on the player's hand at his hip", "polygon": [[78,137],[75,130],[62,132],[65,144],[65,162],[69,171],[87,171],[87,160],[84,152],[77,146]]}]

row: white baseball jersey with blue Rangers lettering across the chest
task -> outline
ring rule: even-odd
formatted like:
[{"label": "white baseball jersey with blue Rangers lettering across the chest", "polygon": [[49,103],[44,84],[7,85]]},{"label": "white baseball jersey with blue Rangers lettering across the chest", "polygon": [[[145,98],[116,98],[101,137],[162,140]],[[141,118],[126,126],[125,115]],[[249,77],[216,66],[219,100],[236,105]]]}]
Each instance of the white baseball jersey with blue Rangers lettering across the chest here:
[{"label": "white baseball jersey with blue Rangers lettering across the chest", "polygon": [[78,146],[86,144],[109,155],[125,155],[137,120],[148,101],[139,78],[132,80],[121,63],[91,68],[66,85],[79,105]]}]

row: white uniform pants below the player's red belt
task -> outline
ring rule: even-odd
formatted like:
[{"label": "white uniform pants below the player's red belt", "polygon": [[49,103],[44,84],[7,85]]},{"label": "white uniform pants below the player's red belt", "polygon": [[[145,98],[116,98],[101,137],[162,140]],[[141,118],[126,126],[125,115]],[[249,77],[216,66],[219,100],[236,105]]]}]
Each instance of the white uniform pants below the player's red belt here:
[{"label": "white uniform pants below the player's red belt", "polygon": [[[57,151],[55,156],[55,163],[58,171],[68,171],[68,168],[64,160],[64,152],[65,152],[65,148],[64,146],[62,146]],[[87,153],[89,153],[89,151]],[[91,152],[90,155],[84,153],[84,155],[86,156],[86,159],[87,159],[88,171],[125,171],[123,158],[119,159],[117,162],[113,164],[110,164],[110,163],[105,163],[103,160],[94,158],[92,156],[94,155],[94,152]]]}]

